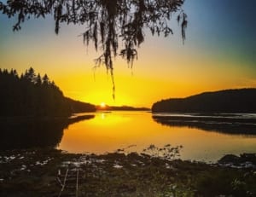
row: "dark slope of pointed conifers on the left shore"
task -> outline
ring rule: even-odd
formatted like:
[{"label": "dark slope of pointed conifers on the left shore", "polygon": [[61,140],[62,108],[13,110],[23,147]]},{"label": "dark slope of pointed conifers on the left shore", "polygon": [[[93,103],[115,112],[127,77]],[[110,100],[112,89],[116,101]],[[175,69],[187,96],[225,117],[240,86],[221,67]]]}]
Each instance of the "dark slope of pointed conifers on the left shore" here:
[{"label": "dark slope of pointed conifers on the left shore", "polygon": [[0,116],[67,117],[72,113],[94,112],[96,107],[74,101],[47,74],[41,78],[31,67],[19,76],[15,70],[0,69]]}]

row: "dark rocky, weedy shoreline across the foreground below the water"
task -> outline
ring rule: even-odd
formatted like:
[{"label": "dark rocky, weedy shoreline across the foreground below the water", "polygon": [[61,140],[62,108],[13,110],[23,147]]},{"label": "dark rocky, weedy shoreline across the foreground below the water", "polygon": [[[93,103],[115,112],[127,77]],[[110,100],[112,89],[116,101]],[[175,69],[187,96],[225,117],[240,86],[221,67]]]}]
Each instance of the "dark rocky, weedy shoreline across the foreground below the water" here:
[{"label": "dark rocky, weedy shoreline across the foreground below the water", "polygon": [[215,165],[175,159],[177,152],[170,146],[143,154],[2,151],[0,196],[256,196],[255,154],[251,165],[234,167],[227,158]]}]

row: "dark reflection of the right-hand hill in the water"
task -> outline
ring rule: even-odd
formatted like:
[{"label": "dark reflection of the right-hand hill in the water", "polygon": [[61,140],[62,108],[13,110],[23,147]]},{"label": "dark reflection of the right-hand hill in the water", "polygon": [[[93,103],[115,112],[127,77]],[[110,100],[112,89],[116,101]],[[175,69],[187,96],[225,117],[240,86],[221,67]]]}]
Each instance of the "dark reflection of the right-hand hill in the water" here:
[{"label": "dark reflection of the right-hand hill in the water", "polygon": [[232,135],[256,135],[255,119],[160,117],[152,116],[160,125],[189,127]]}]

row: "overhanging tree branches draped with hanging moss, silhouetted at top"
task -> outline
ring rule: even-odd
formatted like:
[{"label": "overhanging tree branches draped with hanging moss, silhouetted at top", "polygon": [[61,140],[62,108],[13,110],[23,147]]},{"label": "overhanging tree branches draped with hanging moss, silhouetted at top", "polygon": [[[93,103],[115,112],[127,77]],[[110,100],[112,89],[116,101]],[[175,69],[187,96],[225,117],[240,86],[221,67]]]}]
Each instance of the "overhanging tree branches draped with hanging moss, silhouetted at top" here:
[{"label": "overhanging tree branches draped with hanging moss, silhouetted at top", "polygon": [[[84,43],[92,41],[102,55],[96,65],[104,64],[113,72],[113,57],[121,55],[128,63],[137,59],[137,47],[144,42],[144,30],[167,37],[172,32],[170,22],[176,13],[177,22],[185,39],[187,15],[181,8],[184,0],[9,0],[0,1],[0,11],[9,17],[17,17],[13,27],[30,17],[45,17],[53,14],[55,33],[61,23],[85,26],[81,35]],[[123,49],[119,49],[119,43]]]}]

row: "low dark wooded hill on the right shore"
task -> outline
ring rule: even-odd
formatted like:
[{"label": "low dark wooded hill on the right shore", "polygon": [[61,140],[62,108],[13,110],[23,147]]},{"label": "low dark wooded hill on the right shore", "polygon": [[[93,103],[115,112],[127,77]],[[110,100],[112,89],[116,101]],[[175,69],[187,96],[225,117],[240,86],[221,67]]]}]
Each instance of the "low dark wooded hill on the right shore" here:
[{"label": "low dark wooded hill on the right shore", "polygon": [[256,113],[256,89],[219,90],[157,101],[153,113]]}]

